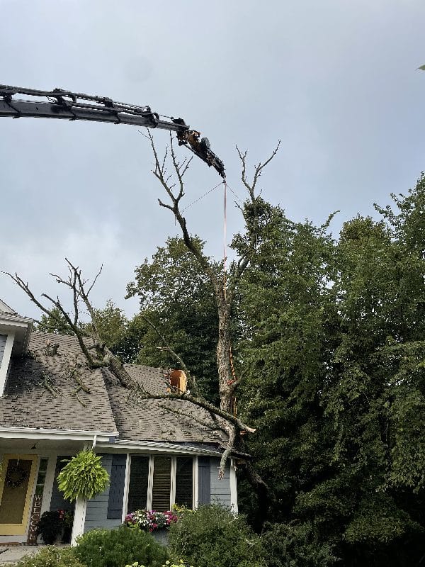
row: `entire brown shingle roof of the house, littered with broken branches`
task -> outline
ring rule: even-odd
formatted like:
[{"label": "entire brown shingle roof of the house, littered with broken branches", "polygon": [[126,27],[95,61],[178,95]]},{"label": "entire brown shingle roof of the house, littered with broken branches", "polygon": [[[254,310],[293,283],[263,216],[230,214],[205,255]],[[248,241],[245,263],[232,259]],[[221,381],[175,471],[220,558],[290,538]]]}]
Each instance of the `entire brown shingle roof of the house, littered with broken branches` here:
[{"label": "entire brown shingle roof of the house, littered with broken branches", "polygon": [[[58,344],[56,354],[47,342]],[[214,444],[223,447],[227,435],[222,420],[187,400],[140,398],[123,388],[108,369],[90,370],[77,339],[33,332],[30,356],[15,359],[0,398],[0,424],[55,430],[118,432],[120,441]],[[79,388],[77,380],[89,393]],[[133,381],[149,393],[166,393],[162,369],[127,365]]]}]

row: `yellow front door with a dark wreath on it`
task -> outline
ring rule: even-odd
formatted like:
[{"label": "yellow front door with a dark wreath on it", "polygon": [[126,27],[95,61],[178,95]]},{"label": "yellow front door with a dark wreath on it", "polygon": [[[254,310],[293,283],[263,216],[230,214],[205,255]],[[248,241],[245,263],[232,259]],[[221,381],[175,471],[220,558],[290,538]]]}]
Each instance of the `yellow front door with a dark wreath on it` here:
[{"label": "yellow front door with a dark wreath on it", "polygon": [[4,455],[0,478],[0,535],[26,533],[37,455]]}]

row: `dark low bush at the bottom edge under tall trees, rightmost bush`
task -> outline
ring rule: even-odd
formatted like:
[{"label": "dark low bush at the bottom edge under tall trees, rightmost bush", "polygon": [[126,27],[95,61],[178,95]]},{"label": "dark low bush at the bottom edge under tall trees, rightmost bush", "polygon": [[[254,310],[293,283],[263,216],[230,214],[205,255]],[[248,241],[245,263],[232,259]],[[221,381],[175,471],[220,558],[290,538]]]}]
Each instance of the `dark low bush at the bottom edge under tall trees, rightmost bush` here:
[{"label": "dark low bush at the bottom edge under tall trees, rightmost bush", "polygon": [[268,567],[327,567],[336,557],[329,544],[319,541],[312,525],[266,524],[261,536]]}]

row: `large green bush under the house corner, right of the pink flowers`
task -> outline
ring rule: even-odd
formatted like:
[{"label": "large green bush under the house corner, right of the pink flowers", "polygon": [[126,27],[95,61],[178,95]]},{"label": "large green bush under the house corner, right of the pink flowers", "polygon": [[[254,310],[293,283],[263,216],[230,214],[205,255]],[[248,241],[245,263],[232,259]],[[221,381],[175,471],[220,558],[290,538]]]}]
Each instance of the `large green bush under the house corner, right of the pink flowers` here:
[{"label": "large green bush under the house corner, right of the pink flowers", "polygon": [[171,554],[199,567],[263,567],[261,541],[246,524],[220,505],[183,512],[169,529]]}]

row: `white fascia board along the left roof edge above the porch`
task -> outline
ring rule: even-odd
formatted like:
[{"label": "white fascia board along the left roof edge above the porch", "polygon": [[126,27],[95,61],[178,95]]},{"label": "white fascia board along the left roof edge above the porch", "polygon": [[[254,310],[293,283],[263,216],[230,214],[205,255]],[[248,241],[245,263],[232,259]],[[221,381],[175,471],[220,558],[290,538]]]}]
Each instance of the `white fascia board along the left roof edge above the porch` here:
[{"label": "white fascia board along the left roof edge above the porch", "polygon": [[109,442],[110,437],[118,437],[117,431],[53,430],[43,427],[0,427],[0,439],[67,439],[68,441]]}]

